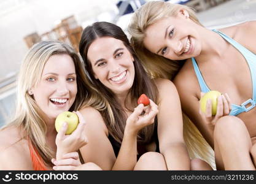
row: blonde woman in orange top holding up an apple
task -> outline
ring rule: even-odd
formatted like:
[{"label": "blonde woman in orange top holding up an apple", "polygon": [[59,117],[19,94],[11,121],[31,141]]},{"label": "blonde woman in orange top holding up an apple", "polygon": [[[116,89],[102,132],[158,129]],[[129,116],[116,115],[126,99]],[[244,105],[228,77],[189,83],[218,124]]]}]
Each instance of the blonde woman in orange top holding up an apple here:
[{"label": "blonde woman in orange top holding up an apple", "polygon": [[91,90],[83,63],[69,45],[34,45],[21,64],[17,90],[15,116],[0,130],[0,170],[100,169],[80,162],[77,150],[87,137],[79,112],[80,123],[71,135],[64,136],[67,126],[59,134],[55,130],[58,114],[77,110]]}]

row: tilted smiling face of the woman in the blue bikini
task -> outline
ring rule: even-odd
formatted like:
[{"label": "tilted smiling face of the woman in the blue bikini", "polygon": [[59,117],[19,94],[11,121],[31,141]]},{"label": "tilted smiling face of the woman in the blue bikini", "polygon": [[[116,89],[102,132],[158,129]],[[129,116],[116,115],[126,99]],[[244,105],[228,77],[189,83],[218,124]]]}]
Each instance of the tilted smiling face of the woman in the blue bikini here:
[{"label": "tilted smiling face of the woman in the blue bikini", "polygon": [[180,10],[176,17],[163,18],[150,25],[143,43],[150,52],[168,59],[192,58],[201,52],[196,27],[198,25],[190,20],[188,12]]}]

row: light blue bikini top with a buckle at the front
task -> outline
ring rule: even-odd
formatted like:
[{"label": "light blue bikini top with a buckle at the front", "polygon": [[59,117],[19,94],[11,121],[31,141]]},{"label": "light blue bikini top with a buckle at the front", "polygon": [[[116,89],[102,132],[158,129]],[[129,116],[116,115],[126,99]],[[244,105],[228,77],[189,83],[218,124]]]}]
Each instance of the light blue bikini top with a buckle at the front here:
[{"label": "light blue bikini top with a buckle at the front", "polygon": [[[246,58],[246,61],[250,68],[250,76],[252,77],[252,98],[247,99],[247,101],[243,102],[241,105],[231,104],[232,110],[230,112],[230,115],[236,116],[239,113],[242,112],[248,112],[252,108],[255,107],[256,104],[256,55],[252,52],[250,52],[247,48],[243,47],[241,44],[236,42],[235,40],[228,37],[226,34],[221,33],[220,31],[217,31],[213,29],[215,33],[218,33],[220,36],[223,37],[223,39],[227,40],[231,45],[233,45],[243,56]],[[211,91],[206,83],[204,82],[203,76],[200,72],[200,69],[198,65],[196,64],[195,58],[192,58],[193,67],[196,72],[196,77],[198,79],[198,82],[200,84],[201,91],[203,93],[207,93]],[[249,107],[246,107],[246,105],[249,105]]]}]

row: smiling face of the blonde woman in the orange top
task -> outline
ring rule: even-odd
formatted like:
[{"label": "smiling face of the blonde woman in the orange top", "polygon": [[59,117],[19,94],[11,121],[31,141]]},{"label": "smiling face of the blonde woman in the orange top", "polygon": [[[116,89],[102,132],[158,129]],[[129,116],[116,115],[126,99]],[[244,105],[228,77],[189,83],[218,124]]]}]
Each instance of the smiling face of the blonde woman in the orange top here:
[{"label": "smiling face of the blonde woman in the orange top", "polygon": [[37,105],[50,119],[69,110],[77,93],[76,69],[71,56],[50,56],[38,85],[31,91]]}]

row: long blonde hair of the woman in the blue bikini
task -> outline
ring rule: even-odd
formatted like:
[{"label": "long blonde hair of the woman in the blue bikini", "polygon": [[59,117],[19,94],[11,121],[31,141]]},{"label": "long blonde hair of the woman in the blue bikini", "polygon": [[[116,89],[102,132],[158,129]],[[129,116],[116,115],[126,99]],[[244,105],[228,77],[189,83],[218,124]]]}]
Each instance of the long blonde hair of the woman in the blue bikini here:
[{"label": "long blonde hair of the woman in the blue bikini", "polygon": [[[163,56],[156,55],[144,47],[143,39],[145,30],[156,21],[169,16],[176,16],[180,9],[187,10],[190,19],[198,25],[201,23],[196,18],[193,9],[180,4],[171,4],[162,1],[150,1],[138,9],[128,26],[128,33],[131,34],[131,45],[143,65],[152,77],[173,79],[185,61],[171,61]],[[192,121],[184,114],[184,139],[188,147],[190,157],[200,156],[214,166],[214,156],[211,147],[200,134]]]}]

